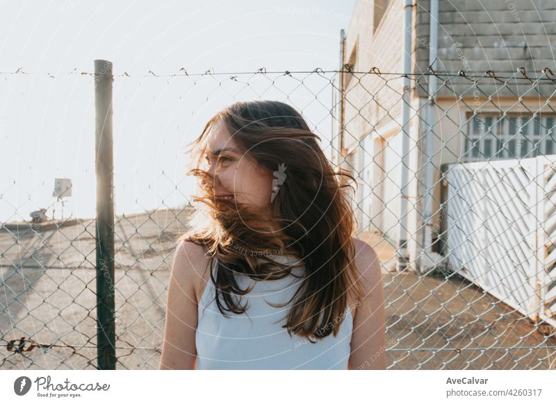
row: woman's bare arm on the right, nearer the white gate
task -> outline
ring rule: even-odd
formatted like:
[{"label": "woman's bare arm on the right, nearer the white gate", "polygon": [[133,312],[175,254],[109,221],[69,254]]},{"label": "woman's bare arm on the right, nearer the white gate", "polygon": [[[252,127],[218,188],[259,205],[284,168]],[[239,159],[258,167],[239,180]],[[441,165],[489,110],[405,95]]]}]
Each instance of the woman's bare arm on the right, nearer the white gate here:
[{"label": "woman's bare arm on the right, nearer the white gate", "polygon": [[386,369],[386,321],[380,260],[365,242],[355,241],[355,265],[365,296],[353,322],[348,369]]}]

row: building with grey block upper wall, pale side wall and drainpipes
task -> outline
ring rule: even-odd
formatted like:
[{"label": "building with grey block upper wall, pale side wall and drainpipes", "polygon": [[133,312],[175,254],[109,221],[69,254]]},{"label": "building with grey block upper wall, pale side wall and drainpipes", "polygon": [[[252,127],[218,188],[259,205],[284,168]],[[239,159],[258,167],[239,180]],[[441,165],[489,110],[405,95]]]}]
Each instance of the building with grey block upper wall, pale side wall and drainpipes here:
[{"label": "building with grey block upper wall, pale side wall and drainpipes", "polygon": [[[539,0],[532,8],[528,0],[439,0],[434,12],[430,0],[409,0],[411,24],[406,24],[406,2],[356,3],[341,40],[345,73],[339,78],[343,102],[338,102],[338,115],[343,125],[335,149],[338,161],[344,161],[342,167],[359,176],[354,201],[359,230],[377,231],[392,244],[400,243],[402,74],[404,36],[408,35],[411,92],[404,227],[410,265],[419,270],[425,228],[434,242],[432,251],[441,249],[437,241],[443,233],[443,165],[556,153],[551,133],[556,117],[547,102],[554,83],[532,88],[527,79],[556,72],[551,44],[556,39],[556,3]],[[433,24],[436,37],[430,35],[431,20],[438,22]],[[435,75],[427,74],[429,67]],[[546,67],[550,70],[543,71]],[[476,75],[483,78],[473,87],[471,76]],[[503,84],[498,78],[509,76],[520,80]],[[432,182],[428,183],[427,133],[434,140]],[[423,195],[429,188],[432,208],[427,210]],[[428,225],[423,217],[430,217]]]}]

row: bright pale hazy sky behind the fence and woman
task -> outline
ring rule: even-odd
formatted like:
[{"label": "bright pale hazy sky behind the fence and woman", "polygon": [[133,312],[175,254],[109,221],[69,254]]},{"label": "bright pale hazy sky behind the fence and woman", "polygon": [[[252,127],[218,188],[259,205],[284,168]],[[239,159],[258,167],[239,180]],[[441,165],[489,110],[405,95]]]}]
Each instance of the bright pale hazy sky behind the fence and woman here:
[{"label": "bright pale hazy sky behind the fence and woman", "polygon": [[[64,218],[95,216],[94,81],[81,72],[92,73],[96,59],[113,62],[117,75],[116,214],[186,203],[195,183],[186,144],[231,102],[287,96],[329,136],[333,75],[270,72],[338,69],[354,4],[1,2],[0,221],[28,220],[39,208],[60,219],[54,178],[72,180]],[[261,68],[268,74],[240,74]]]}]

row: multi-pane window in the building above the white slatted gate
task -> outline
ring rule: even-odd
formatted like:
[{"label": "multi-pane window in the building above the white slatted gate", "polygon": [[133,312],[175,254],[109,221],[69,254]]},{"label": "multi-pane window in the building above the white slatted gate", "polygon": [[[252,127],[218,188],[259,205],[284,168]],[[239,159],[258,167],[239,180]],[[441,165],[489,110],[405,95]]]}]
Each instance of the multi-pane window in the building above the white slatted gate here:
[{"label": "multi-pane window in the building above the white slatted gate", "polygon": [[556,115],[482,113],[468,120],[464,160],[532,158],[556,153]]}]

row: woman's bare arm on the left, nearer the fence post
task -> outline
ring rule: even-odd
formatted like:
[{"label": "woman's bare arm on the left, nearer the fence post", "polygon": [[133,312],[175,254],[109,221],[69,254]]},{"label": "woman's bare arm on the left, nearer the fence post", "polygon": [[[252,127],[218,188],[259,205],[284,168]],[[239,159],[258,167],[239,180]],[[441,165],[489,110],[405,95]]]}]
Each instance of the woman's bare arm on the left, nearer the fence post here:
[{"label": "woman's bare arm on the left, nearer the fence post", "polygon": [[197,349],[197,297],[195,283],[198,273],[193,262],[199,259],[200,247],[183,242],[174,254],[166,305],[166,325],[159,369],[195,369]]}]

